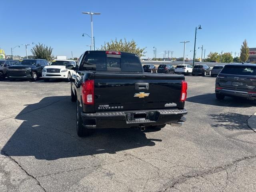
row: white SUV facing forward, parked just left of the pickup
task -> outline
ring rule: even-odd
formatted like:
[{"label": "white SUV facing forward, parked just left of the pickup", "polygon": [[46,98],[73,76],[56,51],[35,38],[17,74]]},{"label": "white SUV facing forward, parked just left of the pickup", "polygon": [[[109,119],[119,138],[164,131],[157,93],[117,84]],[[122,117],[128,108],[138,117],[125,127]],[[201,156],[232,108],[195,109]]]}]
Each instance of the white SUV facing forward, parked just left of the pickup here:
[{"label": "white SUV facing forward, parked just left of the pickup", "polygon": [[65,79],[67,82],[70,81],[74,70],[66,69],[66,65],[76,66],[76,62],[73,60],[52,60],[50,65],[45,66],[42,70],[42,77],[45,82],[50,79]]}]

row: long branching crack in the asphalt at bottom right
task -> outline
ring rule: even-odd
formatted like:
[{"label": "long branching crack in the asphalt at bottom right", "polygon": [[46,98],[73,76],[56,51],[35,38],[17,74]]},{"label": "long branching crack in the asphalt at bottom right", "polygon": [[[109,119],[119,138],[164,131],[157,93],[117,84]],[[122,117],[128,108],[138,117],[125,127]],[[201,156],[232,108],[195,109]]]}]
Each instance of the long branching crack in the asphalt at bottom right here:
[{"label": "long branching crack in the asphalt at bottom right", "polygon": [[[251,159],[251,158],[256,158],[256,155],[246,156],[244,158],[240,158],[238,160],[235,160],[235,161],[231,162],[230,164],[226,164],[224,166],[213,167],[213,168],[203,170],[203,171],[198,171],[194,174],[187,174],[187,175],[182,174],[179,178],[174,179],[171,182],[171,184],[168,184],[168,186],[166,188],[164,188],[163,190],[159,190],[158,192],[164,192],[164,191],[167,191],[168,189],[172,189],[176,185],[182,184],[182,183],[186,182],[187,180],[189,180],[191,178],[204,177],[206,175],[211,175],[211,174],[218,173],[218,172],[221,172],[221,171],[224,171],[224,170],[227,172],[227,169],[230,168],[231,166],[233,166],[234,164],[237,164],[238,162],[242,162],[242,161],[245,161],[245,160]],[[228,172],[227,172],[226,184],[227,183],[228,183]]]}]

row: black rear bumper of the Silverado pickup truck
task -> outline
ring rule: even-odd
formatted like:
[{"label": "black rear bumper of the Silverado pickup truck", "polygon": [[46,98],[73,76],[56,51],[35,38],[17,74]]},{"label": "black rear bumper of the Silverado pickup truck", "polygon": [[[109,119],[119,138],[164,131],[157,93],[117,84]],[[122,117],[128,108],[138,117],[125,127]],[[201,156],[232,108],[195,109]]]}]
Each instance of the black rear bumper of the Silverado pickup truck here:
[{"label": "black rear bumper of the Silverado pickup truck", "polygon": [[[143,114],[145,115],[145,118],[134,119],[134,114]],[[89,114],[82,112],[81,118],[83,121],[83,126],[89,129],[130,128],[177,123],[182,121],[181,119],[184,114],[187,114],[186,109],[98,112]]]}]

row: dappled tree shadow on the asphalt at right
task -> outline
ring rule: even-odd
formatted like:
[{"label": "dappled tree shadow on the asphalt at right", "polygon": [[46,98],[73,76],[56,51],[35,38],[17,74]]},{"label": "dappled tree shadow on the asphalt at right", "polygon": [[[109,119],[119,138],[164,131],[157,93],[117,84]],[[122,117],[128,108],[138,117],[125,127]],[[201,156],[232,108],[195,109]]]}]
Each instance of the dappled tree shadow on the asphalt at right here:
[{"label": "dappled tree shadow on the asphalt at right", "polygon": [[228,130],[250,130],[247,126],[248,115],[242,115],[238,113],[221,113],[221,114],[210,114],[210,118],[216,121],[216,124],[211,125],[212,127],[224,127]]}]

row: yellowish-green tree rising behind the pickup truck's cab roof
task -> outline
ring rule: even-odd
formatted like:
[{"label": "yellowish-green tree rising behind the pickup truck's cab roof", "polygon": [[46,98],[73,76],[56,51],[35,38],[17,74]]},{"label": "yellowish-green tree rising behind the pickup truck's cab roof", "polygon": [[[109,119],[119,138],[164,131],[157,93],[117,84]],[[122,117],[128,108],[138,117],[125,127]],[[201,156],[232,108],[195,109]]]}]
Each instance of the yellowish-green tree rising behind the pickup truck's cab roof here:
[{"label": "yellowish-green tree rising behind the pickup truck's cab roof", "polygon": [[135,53],[139,57],[144,57],[145,55],[145,48],[140,48],[137,46],[136,42],[134,40],[127,41],[126,38],[124,38],[124,41],[120,39],[119,41],[111,40],[110,42],[105,42],[103,46],[101,46],[100,50],[102,51],[122,51],[122,52],[128,52],[128,53]]}]

